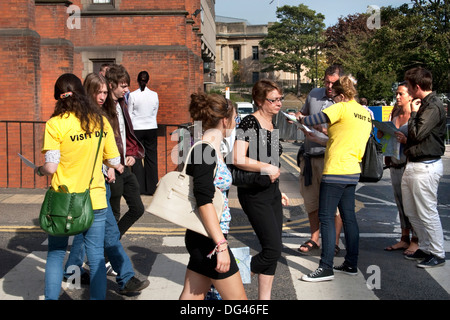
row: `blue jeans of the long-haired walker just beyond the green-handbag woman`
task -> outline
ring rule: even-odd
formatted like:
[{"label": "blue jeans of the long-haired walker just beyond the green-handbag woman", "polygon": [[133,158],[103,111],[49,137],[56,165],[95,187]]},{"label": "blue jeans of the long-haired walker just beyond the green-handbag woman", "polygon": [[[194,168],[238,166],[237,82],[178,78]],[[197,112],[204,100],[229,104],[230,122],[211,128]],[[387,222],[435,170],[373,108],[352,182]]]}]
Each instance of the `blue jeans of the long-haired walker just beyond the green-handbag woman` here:
[{"label": "blue jeans of the long-haired walker just beyond the green-handbag woman", "polygon": [[[111,189],[109,187],[109,184],[106,183],[106,199],[108,202],[108,208],[106,209],[107,212],[105,221],[105,254],[108,260],[111,262],[111,266],[113,267],[114,271],[117,272],[117,284],[121,289],[123,289],[128,280],[130,280],[134,276],[134,270],[130,258],[126,254],[125,249],[120,242],[119,228],[117,227],[114,213],[112,212],[111,206],[109,204],[110,195]],[[83,238],[83,234],[78,234],[74,237],[65,270],[67,270],[67,268],[71,265],[75,265],[81,268],[85,255]],[[81,272],[84,272],[82,268]],[[70,274],[66,273],[66,276],[69,275]]]}]

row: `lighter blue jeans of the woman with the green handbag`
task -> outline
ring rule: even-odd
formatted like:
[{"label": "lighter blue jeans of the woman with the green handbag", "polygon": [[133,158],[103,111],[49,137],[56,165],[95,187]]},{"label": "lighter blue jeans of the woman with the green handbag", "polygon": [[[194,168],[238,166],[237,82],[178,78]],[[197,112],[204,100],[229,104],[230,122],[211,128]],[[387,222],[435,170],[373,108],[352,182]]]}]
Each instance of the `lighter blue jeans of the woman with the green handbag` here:
[{"label": "lighter blue jeans of the woman with the green handbag", "polygon": [[[106,209],[94,210],[94,222],[82,233],[91,270],[91,300],[106,298],[106,268],[104,238]],[[63,278],[63,262],[69,237],[48,236],[47,264],[45,266],[45,299],[58,300]]]}]

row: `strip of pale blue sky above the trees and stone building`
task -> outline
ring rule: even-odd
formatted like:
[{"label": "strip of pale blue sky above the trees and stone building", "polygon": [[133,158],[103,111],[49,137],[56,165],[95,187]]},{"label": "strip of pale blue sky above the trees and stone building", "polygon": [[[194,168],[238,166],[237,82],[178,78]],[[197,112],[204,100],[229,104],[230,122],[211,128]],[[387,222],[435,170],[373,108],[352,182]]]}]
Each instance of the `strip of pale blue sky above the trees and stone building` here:
[{"label": "strip of pale blue sky above the trees and stone building", "polygon": [[325,16],[325,27],[333,26],[338,18],[354,13],[366,13],[369,5],[399,7],[410,0],[216,0],[216,15],[246,19],[250,24],[276,21],[277,5],[298,6],[300,3]]}]

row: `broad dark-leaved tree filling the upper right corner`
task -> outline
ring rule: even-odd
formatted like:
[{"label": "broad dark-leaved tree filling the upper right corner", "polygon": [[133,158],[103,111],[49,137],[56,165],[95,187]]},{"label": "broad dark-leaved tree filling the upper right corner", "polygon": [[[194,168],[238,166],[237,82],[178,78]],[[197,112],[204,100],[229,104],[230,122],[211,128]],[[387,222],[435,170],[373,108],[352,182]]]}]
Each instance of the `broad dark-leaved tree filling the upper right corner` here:
[{"label": "broad dark-leaved tree filling the upper right corner", "polygon": [[350,15],[326,30],[328,62],[340,63],[358,79],[358,92],[369,101],[393,99],[392,87],[405,71],[424,66],[433,88],[449,92],[449,1],[411,1],[383,7],[381,28],[369,30],[367,14]]}]

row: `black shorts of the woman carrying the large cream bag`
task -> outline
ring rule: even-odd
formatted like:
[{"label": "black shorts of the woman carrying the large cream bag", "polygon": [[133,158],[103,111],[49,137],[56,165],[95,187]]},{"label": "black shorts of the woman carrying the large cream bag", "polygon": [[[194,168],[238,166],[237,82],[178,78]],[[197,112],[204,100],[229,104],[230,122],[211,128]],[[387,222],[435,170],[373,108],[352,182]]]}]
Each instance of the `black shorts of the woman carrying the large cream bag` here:
[{"label": "black shorts of the woman carrying the large cream bag", "polygon": [[[226,237],[226,236],[225,236]],[[211,279],[225,279],[239,271],[236,259],[230,248],[219,254],[230,255],[230,270],[226,273],[219,273],[215,270],[217,266],[217,253],[211,259],[207,255],[215,248],[216,244],[211,238],[205,237],[197,232],[187,230],[184,238],[186,249],[190,258],[187,268]]]}]

